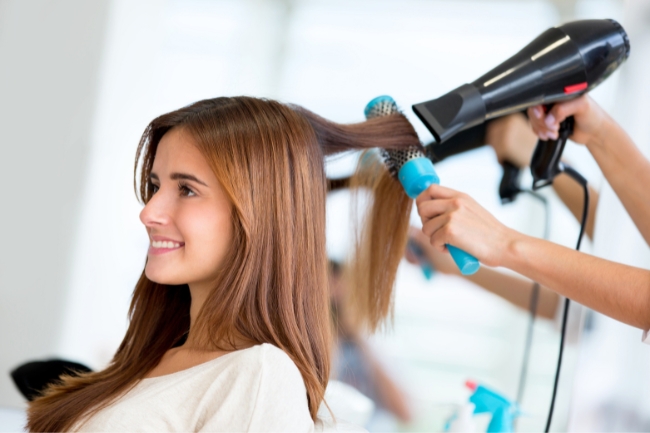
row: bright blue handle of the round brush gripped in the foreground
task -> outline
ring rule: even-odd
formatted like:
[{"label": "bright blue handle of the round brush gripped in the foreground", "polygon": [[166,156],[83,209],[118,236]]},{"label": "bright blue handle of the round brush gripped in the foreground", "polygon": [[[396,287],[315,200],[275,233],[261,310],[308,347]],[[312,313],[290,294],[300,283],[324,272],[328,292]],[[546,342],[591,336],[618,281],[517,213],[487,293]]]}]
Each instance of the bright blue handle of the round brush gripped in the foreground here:
[{"label": "bright blue handle of the round brush gripped in the foreground", "polygon": [[[398,178],[406,194],[412,199],[417,198],[422,191],[434,183],[440,184],[440,178],[436,174],[433,164],[425,157],[415,158],[404,164],[398,173]],[[481,267],[476,257],[460,248],[447,244],[447,249],[461,274],[475,274]]]}]

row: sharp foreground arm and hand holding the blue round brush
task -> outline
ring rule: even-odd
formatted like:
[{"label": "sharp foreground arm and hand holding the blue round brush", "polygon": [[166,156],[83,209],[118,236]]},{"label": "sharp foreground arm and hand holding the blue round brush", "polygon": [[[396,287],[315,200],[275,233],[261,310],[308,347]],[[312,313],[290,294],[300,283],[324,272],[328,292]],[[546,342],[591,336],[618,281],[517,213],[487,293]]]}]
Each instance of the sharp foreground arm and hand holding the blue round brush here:
[{"label": "sharp foreground arm and hand holding the blue round brush", "polygon": [[512,269],[616,320],[650,328],[650,271],[521,234],[468,195],[440,185],[423,192],[417,206],[422,231],[439,251],[457,246],[485,265]]}]

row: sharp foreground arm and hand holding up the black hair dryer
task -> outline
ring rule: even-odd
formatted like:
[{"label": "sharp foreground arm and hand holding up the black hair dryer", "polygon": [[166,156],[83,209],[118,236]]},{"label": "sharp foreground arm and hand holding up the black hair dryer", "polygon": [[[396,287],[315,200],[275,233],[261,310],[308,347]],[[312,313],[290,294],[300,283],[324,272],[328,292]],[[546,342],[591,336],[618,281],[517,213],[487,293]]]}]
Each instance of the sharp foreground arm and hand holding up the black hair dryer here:
[{"label": "sharp foreground arm and hand holding up the black hair dryer", "polygon": [[588,96],[556,104],[548,114],[529,110],[531,125],[541,137],[557,137],[560,122],[575,118],[571,139],[585,144],[607,181],[650,245],[650,162],[627,133]]}]

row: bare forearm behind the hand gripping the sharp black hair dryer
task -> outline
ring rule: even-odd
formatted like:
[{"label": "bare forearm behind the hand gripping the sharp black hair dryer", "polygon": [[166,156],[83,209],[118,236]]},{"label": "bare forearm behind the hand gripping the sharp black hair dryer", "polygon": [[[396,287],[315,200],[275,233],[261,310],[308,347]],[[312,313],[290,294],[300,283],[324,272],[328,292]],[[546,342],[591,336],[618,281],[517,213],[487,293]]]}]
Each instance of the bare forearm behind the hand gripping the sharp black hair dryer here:
[{"label": "bare forearm behind the hand gripping the sharp black hair dryer", "polygon": [[613,121],[607,122],[600,137],[587,147],[650,245],[650,162]]}]

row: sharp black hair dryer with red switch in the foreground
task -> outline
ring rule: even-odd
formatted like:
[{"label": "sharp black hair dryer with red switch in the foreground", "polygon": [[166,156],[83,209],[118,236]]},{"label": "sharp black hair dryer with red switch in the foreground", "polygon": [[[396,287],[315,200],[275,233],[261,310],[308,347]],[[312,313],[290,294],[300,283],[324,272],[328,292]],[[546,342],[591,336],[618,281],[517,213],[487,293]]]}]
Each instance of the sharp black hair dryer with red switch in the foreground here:
[{"label": "sharp black hair dryer with red switch in the foreground", "polygon": [[[611,75],[630,54],[630,41],[614,20],[581,20],[546,30],[517,54],[440,98],[413,105],[436,139],[435,147],[460,131],[534,105],[575,98]],[[533,188],[553,182],[561,171],[573,119],[557,140],[539,141],[531,161]],[[468,149],[463,149],[468,150]]]}]

